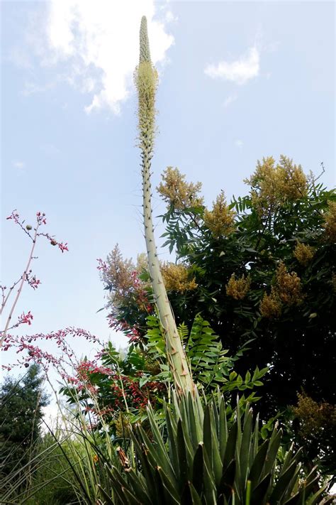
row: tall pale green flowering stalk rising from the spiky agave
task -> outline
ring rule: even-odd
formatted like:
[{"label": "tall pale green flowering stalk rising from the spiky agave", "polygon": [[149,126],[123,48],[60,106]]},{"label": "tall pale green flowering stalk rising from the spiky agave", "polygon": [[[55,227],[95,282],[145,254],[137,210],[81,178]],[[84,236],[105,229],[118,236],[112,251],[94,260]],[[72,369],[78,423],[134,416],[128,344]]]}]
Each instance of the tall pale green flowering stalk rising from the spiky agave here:
[{"label": "tall pale green flowering stalk rising from the spiky agave", "polygon": [[148,267],[152,281],[155,304],[166,337],[166,351],[174,383],[180,393],[194,391],[189,364],[177,331],[167,291],[157,258],[154,227],[152,222],[150,168],[155,140],[155,94],[157,71],[150,59],[147,34],[147,19],[142,17],[140,26],[140,61],[135,70],[135,85],[138,89],[138,131],[141,151],[143,221],[147,246]]}]

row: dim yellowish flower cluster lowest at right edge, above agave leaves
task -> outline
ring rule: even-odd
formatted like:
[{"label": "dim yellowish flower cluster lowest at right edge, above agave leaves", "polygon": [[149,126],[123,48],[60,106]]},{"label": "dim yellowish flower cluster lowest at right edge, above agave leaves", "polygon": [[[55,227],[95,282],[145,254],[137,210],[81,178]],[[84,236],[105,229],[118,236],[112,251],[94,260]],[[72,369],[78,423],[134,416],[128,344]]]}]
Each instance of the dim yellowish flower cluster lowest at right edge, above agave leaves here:
[{"label": "dim yellowish flower cluster lowest at right edge, above agave leaves", "polygon": [[298,405],[293,412],[301,421],[303,436],[310,437],[317,430],[336,428],[336,406],[330,403],[317,403],[310,396],[298,394]]}]

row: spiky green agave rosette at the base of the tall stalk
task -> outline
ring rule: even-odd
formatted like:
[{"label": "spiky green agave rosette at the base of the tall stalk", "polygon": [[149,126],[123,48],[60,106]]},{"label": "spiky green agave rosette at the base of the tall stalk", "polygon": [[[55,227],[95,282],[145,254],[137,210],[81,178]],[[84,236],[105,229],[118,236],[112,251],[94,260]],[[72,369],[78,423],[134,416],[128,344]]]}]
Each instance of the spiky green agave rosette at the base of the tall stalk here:
[{"label": "spiky green agave rosette at the base of the tall stalk", "polygon": [[[173,395],[165,405],[165,428],[147,408],[150,433],[138,426],[131,433],[134,466],[119,449],[121,466],[106,470],[113,498],[101,489],[105,504],[114,505],[304,505],[317,504],[314,468],[303,478],[299,452],[287,452],[282,465],[276,460],[281,430],[269,440],[259,438],[259,420],[252,409],[239,405],[235,421],[227,423],[223,396],[217,393],[202,406],[196,396]],[[325,501],[324,503],[330,503]]]}]

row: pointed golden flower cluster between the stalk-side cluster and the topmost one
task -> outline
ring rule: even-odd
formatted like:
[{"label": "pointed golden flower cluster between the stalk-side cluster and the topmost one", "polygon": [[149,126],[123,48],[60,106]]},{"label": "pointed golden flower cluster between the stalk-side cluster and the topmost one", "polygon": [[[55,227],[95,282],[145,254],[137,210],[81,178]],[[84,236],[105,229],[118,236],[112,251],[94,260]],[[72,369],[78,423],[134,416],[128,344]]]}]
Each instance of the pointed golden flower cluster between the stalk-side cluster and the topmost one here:
[{"label": "pointed golden flower cluster between the stalk-side cluster and the topmost one", "polygon": [[213,210],[204,212],[204,224],[215,239],[225,237],[235,230],[235,211],[226,205],[223,191],[213,202]]}]

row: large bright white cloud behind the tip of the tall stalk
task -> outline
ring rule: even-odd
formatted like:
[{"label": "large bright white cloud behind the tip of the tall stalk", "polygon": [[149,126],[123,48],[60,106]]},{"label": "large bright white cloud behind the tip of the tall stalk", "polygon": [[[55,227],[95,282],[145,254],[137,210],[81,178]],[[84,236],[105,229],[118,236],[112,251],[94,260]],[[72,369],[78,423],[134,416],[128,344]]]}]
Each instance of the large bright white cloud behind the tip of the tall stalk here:
[{"label": "large bright white cloud behind the tip of the tall stalk", "polygon": [[143,15],[147,16],[153,63],[164,62],[174,43],[164,26],[174,17],[160,8],[162,21],[158,21],[154,0],[50,0],[45,5],[45,31],[32,42],[44,67],[62,65],[60,80],[91,94],[86,112],[109,107],[118,114],[129,97]]}]

